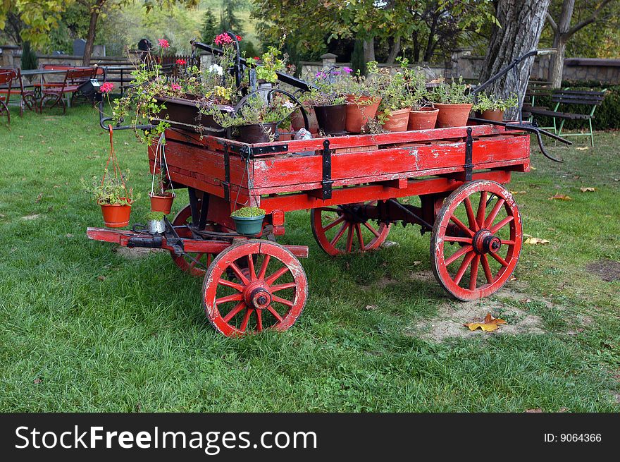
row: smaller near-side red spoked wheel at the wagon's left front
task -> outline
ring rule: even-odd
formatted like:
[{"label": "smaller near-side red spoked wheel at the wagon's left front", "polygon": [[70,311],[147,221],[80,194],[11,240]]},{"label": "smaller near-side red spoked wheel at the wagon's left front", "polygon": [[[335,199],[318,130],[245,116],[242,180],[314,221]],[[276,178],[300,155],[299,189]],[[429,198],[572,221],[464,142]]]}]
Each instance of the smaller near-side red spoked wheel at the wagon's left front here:
[{"label": "smaller near-side red spoked wheel at the wagon's left front", "polygon": [[[240,267],[241,260],[247,262],[246,268]],[[254,239],[215,257],[202,293],[206,317],[225,336],[285,331],[302,314],[308,279],[289,250]]]}]

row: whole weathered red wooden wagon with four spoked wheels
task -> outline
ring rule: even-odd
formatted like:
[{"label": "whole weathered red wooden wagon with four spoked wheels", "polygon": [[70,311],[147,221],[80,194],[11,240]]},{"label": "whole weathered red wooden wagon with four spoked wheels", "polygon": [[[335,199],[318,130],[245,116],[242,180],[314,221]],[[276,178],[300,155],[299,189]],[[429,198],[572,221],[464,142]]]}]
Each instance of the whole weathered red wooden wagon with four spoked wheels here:
[{"label": "whole weathered red wooden wagon with four spoked wheels", "polygon": [[[190,204],[163,235],[87,234],[169,250],[180,269],[204,277],[206,315],[225,335],[288,329],[304,308],[298,258],[308,248],[275,243],[286,212],[311,209],[311,229],[329,255],[375,250],[397,221],[421,226],[438,282],[460,300],[497,291],[519,260],[521,216],[502,183],[530,168],[521,130],[474,125],[255,145],[168,130],[166,140],[173,186],[188,188]],[[149,159],[152,171],[154,147]],[[399,201],[409,196],[419,205]],[[266,209],[255,238],[233,231],[230,213],[243,205]]]}]

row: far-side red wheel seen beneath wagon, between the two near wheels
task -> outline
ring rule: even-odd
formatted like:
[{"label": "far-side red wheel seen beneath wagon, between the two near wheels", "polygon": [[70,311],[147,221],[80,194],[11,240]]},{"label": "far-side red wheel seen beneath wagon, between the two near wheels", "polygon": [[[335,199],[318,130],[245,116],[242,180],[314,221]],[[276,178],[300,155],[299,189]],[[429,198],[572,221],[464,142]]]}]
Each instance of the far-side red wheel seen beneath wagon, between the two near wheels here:
[{"label": "far-side red wheel seen beneath wagon, between the two near wheels", "polygon": [[360,216],[362,205],[376,205],[374,202],[359,202],[341,207],[318,207],[310,214],[310,226],[319,247],[329,255],[374,250],[385,242],[391,224],[372,224]]}]

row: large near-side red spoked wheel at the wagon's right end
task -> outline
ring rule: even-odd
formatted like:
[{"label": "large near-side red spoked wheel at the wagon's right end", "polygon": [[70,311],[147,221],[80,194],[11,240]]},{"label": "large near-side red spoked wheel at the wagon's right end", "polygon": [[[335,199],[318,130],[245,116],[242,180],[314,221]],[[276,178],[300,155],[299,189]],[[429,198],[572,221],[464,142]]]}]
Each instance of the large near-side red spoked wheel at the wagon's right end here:
[{"label": "large near-side red spoked wheel at the wagon's right end", "polygon": [[435,278],[459,300],[490,296],[510,279],[522,240],[521,215],[509,191],[495,181],[466,183],[447,197],[433,226]]}]

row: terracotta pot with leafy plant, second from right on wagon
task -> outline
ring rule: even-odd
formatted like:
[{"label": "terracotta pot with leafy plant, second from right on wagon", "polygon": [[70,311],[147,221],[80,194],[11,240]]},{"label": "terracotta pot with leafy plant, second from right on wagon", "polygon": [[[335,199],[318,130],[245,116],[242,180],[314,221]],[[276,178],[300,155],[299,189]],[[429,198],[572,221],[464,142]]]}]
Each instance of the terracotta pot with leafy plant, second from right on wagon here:
[{"label": "terracotta pot with leafy plant, second from right on wagon", "polygon": [[435,107],[439,109],[437,125],[439,128],[461,127],[467,124],[473,97],[469,94],[469,85],[463,78],[452,83],[441,83],[433,88],[430,96]]}]

